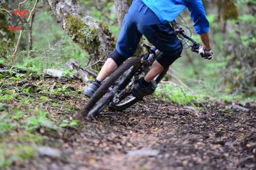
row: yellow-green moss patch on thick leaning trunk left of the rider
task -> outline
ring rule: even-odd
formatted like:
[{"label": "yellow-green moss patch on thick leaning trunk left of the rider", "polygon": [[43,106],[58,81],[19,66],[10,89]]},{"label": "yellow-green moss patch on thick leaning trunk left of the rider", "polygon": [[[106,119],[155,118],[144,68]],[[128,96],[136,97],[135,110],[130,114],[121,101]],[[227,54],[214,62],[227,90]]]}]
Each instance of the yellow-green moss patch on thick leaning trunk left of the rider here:
[{"label": "yellow-green moss patch on thick leaning trunk left of the rider", "polygon": [[68,14],[66,18],[68,33],[73,41],[76,41],[88,53],[95,53],[95,48],[100,44],[96,29],[90,29],[81,17]]}]

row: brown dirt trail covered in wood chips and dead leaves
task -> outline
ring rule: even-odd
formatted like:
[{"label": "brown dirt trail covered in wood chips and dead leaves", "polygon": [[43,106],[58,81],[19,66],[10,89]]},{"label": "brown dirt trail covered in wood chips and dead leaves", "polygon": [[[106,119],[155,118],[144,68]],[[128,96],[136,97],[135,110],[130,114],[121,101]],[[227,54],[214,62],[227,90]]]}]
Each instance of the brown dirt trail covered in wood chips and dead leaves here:
[{"label": "brown dirt trail covered in wood chips and dead leaves", "polygon": [[[83,97],[69,98],[76,113]],[[205,111],[147,97],[79,129],[45,132],[45,145],[61,157],[37,155],[7,169],[256,169],[256,104],[244,106],[250,111],[231,106],[215,101]]]}]

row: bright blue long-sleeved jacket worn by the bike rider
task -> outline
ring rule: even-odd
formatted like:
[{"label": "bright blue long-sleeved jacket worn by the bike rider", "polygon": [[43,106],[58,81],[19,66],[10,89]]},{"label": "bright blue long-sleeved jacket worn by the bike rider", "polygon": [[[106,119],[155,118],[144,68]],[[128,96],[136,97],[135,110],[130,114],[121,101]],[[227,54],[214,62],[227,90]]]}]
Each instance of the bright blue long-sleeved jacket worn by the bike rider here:
[{"label": "bright blue long-sleeved jacket worn by the bike rider", "polygon": [[202,0],[143,0],[163,24],[172,22],[187,7],[191,13],[197,34],[209,32],[209,21],[206,18]]}]

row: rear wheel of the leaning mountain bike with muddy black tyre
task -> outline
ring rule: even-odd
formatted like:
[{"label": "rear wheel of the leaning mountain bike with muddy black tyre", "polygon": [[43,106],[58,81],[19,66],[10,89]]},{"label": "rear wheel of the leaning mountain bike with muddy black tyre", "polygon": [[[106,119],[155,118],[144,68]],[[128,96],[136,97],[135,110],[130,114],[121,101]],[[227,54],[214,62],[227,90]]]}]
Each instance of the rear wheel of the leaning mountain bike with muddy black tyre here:
[{"label": "rear wheel of the leaning mountain bike with muddy black tyre", "polygon": [[104,110],[118,90],[123,90],[140,67],[140,58],[131,57],[118,67],[109,78],[102,83],[88,103],[82,108],[81,114],[87,118],[95,118]]}]

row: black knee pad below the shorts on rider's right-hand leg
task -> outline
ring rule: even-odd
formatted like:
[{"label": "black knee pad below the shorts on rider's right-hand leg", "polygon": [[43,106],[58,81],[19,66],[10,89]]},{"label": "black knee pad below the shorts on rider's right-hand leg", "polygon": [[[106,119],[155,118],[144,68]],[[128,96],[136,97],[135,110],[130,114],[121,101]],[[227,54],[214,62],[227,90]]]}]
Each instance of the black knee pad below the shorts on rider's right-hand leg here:
[{"label": "black knee pad below the shorts on rider's right-hand leg", "polygon": [[157,62],[159,62],[159,64],[161,64],[164,68],[167,68],[169,66],[171,66],[173,64],[173,62],[175,62],[175,60],[179,59],[180,54],[181,54],[182,50],[180,52],[178,52],[175,55],[166,55],[164,53],[161,53],[158,57],[157,57]]}]

